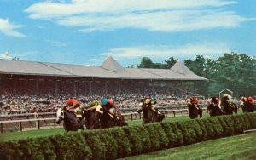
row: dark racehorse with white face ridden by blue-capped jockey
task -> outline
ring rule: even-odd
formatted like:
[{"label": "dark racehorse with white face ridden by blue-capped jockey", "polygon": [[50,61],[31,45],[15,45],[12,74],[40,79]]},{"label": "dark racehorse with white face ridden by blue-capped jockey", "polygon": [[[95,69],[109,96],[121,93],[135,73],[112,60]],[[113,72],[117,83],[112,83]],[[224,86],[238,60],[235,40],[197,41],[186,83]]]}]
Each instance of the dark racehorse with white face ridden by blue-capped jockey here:
[{"label": "dark racehorse with white face ridden by blue-capped jockey", "polygon": [[117,111],[117,118],[115,118],[101,105],[96,106],[96,117],[99,118],[102,129],[127,125],[127,123],[125,123],[125,117],[123,117],[119,111]]}]

